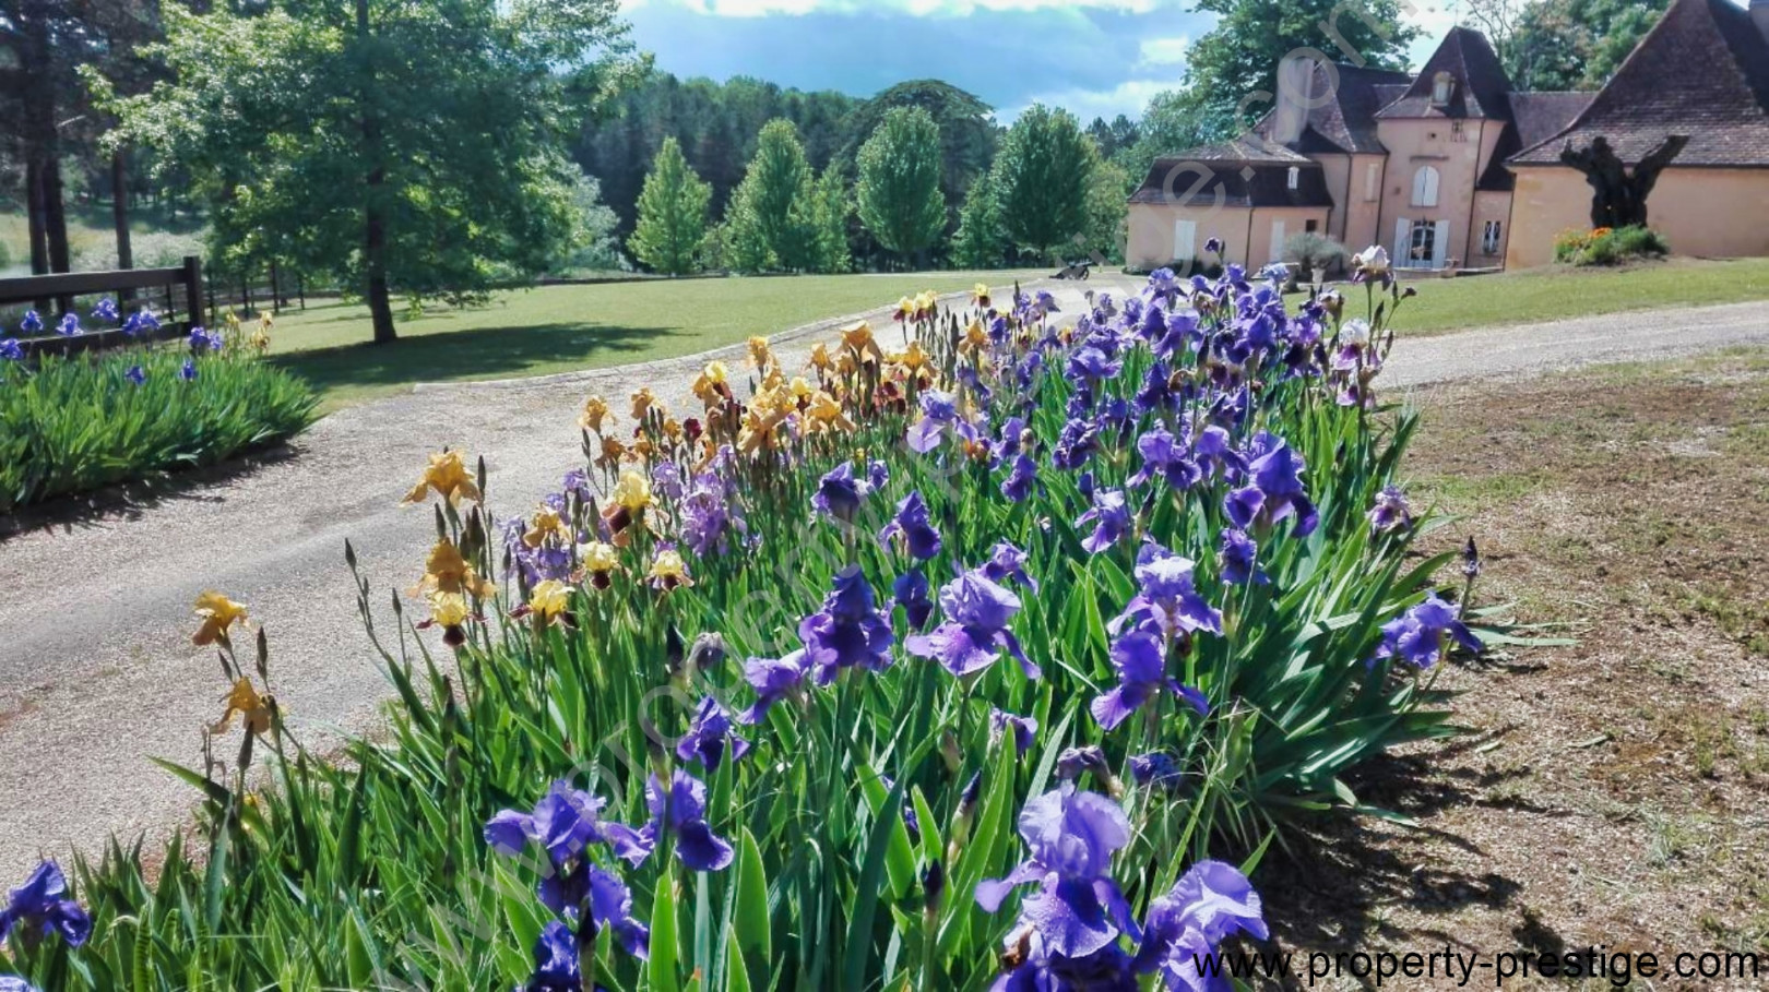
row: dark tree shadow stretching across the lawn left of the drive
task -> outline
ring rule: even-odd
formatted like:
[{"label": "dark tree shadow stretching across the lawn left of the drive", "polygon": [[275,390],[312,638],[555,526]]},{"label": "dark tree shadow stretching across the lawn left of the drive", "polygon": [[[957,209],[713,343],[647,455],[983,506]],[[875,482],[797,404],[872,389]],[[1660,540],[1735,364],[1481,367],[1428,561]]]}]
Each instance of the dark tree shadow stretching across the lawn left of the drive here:
[{"label": "dark tree shadow stretching across the lawn left of the drive", "polygon": [[688,336],[678,327],[609,327],[600,324],[538,324],[400,338],[391,345],[343,345],[271,355],[271,364],[304,377],[317,389],[410,385],[462,378],[501,378],[559,366],[617,364],[619,355],[647,352],[660,340]]}]

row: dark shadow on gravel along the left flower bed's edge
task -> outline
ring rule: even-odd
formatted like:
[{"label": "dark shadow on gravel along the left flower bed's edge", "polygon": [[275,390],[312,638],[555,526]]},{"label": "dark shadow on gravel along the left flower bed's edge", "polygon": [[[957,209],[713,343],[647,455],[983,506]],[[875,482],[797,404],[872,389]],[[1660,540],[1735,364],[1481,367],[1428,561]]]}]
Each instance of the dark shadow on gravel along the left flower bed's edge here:
[{"label": "dark shadow on gravel along the left flower bed's edge", "polygon": [[0,513],[0,550],[9,539],[25,532],[73,534],[111,522],[140,520],[149,509],[168,502],[221,502],[223,497],[207,490],[297,454],[294,444],[283,442],[235,454],[218,465],[159,472],[147,479]]}]

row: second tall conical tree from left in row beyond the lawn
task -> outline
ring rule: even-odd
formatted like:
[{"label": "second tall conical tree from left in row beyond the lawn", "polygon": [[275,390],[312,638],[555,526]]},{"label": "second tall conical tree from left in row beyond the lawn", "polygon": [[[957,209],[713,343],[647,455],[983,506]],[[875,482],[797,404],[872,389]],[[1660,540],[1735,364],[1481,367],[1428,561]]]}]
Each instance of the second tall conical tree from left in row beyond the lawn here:
[{"label": "second tall conical tree from left in row beyond the lawn", "polygon": [[810,269],[814,246],[807,209],[812,182],[798,127],[785,118],[770,120],[725,214],[738,269]]}]

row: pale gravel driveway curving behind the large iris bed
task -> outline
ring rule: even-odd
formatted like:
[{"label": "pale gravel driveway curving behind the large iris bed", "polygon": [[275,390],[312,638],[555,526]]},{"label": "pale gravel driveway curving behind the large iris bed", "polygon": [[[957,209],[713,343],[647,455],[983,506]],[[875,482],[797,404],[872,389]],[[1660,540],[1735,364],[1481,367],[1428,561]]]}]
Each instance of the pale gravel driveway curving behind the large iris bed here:
[{"label": "pale gravel driveway curving behind the large iris bed", "polygon": [[[1091,288],[1114,285],[1129,283]],[[1053,288],[1065,311],[1081,306],[1079,286]],[[840,322],[789,331],[777,352],[798,362]],[[1383,378],[1528,375],[1734,343],[1769,345],[1769,302],[1403,338]],[[111,831],[163,831],[186,813],[189,789],[147,759],[196,764],[198,729],[219,716],[219,668],[189,644],[196,592],[221,589],[251,607],[269,633],[278,698],[308,739],[363,729],[389,686],[368,661],[345,538],[373,582],[371,601],[386,603],[389,587],[423,571],[430,513],[396,500],[430,451],[485,454],[494,509],[518,513],[578,463],[586,394],[651,385],[685,408],[704,361],[417,387],[325,417],[294,458],[0,543],[0,884],[39,854],[92,849]]]}]

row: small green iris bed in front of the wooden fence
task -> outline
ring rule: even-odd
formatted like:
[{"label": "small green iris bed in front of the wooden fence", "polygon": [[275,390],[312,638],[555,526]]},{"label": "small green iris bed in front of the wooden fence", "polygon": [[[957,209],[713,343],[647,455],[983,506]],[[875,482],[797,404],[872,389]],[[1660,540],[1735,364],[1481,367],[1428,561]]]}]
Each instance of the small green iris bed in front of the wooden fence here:
[{"label": "small green iris bed in front of the wooden fence", "polygon": [[[115,304],[101,301],[92,318],[117,324]],[[150,322],[143,309],[122,327],[145,332]],[[73,313],[55,327],[83,332]],[[41,329],[28,313],[25,332]],[[27,364],[16,340],[0,340],[0,513],[211,465],[301,431],[313,419],[313,393],[257,361],[257,350],[237,327],[198,327],[184,348],[142,345]]]}]

